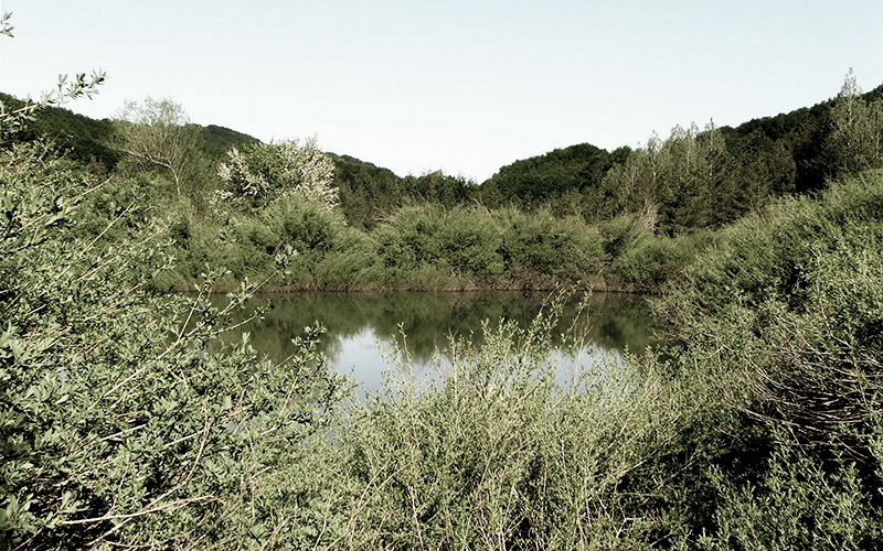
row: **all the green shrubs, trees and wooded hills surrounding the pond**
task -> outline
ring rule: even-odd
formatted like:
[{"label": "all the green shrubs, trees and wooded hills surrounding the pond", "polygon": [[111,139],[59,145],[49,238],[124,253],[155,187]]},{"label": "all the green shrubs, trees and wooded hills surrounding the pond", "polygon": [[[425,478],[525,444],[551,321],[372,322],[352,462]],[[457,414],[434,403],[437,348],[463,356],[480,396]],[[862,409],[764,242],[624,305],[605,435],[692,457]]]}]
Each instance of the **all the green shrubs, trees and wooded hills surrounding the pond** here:
[{"label": "all the green shrubs, trees and wooded hills surrounding the pond", "polygon": [[[102,82],[0,97],[4,547],[883,544],[883,87],[476,183],[61,107]],[[652,295],[661,344],[558,383],[561,291],[359,400],[318,324],[219,343],[256,289],[556,288]]]}]

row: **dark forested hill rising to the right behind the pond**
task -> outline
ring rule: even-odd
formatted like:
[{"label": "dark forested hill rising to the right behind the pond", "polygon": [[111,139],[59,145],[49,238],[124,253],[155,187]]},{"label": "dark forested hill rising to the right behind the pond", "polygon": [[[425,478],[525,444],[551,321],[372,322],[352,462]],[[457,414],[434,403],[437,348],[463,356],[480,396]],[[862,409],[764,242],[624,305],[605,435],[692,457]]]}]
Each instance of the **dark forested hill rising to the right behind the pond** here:
[{"label": "dark forested hill rising to the right behind the pond", "polygon": [[833,99],[735,128],[675,127],[636,150],[579,144],[515,161],[480,198],[588,220],[631,213],[666,233],[720,227],[772,197],[875,165],[882,98],[883,86],[859,94],[850,75]]}]

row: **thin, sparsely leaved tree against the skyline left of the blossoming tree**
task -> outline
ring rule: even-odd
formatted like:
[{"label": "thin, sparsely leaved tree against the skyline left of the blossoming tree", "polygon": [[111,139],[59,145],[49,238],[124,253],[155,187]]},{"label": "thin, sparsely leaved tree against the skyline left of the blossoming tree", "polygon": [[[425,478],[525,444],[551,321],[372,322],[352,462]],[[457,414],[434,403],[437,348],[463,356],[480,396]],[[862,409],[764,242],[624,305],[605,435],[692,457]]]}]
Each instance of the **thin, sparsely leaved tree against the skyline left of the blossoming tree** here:
[{"label": "thin, sparsely leaved tree against the skyline left of the blossoming tree", "polygon": [[201,155],[199,130],[190,125],[181,104],[169,98],[147,97],[143,104],[129,100],[117,112],[117,148],[142,169],[166,169],[181,195],[187,170]]}]

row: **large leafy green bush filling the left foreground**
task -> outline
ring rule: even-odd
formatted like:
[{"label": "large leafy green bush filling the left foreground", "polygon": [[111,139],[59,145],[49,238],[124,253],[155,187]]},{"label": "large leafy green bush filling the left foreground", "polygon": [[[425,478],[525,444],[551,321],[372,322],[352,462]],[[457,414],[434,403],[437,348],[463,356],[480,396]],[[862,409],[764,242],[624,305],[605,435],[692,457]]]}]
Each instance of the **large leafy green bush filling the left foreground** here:
[{"label": "large leafy green bush filling the left foreground", "polygon": [[2,153],[0,182],[3,545],[272,541],[274,480],[338,388],[319,329],[283,365],[247,339],[206,354],[247,289],[222,310],[212,273],[192,299],[146,293],[166,228],[124,209],[105,229],[131,239],[74,237],[99,186],[38,143]]}]

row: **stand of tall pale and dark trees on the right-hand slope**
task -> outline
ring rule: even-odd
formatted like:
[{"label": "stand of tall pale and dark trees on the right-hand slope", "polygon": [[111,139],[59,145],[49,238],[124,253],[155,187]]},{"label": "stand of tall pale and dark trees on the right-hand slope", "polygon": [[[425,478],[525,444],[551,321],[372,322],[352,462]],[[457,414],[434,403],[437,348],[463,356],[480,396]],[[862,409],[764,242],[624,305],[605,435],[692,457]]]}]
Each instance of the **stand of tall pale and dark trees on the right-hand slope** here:
[{"label": "stand of tall pale and dark trees on the right-hand slope", "polygon": [[880,168],[883,102],[850,73],[840,95],[740,127],[675,127],[614,164],[593,208],[640,214],[668,235],[719,228],[770,198]]}]

